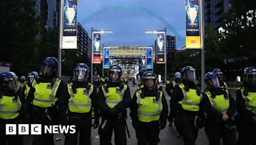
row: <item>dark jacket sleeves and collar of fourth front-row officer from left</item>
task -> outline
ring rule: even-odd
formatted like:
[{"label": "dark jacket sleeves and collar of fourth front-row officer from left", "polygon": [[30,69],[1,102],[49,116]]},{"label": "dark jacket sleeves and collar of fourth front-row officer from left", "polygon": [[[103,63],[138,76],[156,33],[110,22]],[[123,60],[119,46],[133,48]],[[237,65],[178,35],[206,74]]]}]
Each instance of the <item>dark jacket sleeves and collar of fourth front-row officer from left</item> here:
[{"label": "dark jacket sleeves and collar of fourth front-row officer from left", "polygon": [[[120,83],[108,83],[107,88],[120,86]],[[111,108],[108,107],[108,104],[106,103],[106,98],[104,97],[104,93],[102,91],[102,87],[99,88],[98,93],[98,106],[100,115],[104,118],[109,118],[109,114],[111,114]],[[131,93],[130,88],[127,86],[127,89],[124,92],[123,100],[118,102],[118,104],[113,108],[117,111],[117,113],[122,113],[126,116],[126,108],[131,106]]]}]

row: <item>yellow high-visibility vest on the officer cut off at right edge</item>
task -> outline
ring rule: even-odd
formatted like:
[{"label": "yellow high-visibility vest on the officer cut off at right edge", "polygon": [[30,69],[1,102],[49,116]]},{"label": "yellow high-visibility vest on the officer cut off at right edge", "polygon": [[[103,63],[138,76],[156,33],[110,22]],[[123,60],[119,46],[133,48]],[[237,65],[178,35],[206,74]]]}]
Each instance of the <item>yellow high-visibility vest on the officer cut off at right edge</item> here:
[{"label": "yellow high-visibility vest on the officer cut off at right edge", "polygon": [[[246,109],[252,111],[252,113],[256,114],[256,92],[247,92],[244,90],[244,87],[240,89],[243,99],[245,100]],[[247,92],[245,95],[243,92]]]}]

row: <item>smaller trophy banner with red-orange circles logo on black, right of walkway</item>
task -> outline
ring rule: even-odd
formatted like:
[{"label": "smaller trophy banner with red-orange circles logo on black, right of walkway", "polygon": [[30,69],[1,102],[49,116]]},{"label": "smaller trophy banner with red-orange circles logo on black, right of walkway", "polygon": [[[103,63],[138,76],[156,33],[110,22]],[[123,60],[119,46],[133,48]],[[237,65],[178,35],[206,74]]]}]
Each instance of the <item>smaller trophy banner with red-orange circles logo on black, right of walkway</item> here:
[{"label": "smaller trophy banner with red-orange circles logo on black, right of walkway", "polygon": [[156,50],[156,56],[157,56],[157,64],[164,64],[164,32],[163,33],[157,33],[157,50]]}]

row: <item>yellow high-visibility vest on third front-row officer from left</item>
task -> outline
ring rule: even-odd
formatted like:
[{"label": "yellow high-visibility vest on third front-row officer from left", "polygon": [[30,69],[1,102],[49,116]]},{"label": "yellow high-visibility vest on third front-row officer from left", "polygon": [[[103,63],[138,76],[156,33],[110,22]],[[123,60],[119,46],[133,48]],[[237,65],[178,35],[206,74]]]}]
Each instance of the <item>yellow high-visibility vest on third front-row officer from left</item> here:
[{"label": "yellow high-visibility vest on third front-row officer from left", "polygon": [[72,90],[72,83],[68,83],[68,93],[70,99],[68,100],[68,109],[72,113],[88,113],[91,111],[92,100],[90,95],[93,92],[93,85],[88,84],[88,88],[76,88],[76,93]]}]

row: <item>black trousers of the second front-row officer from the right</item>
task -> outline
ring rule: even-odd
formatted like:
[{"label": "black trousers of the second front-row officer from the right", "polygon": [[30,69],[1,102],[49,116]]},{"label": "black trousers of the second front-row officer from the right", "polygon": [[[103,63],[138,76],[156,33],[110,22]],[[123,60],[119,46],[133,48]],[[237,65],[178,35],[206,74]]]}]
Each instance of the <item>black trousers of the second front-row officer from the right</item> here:
[{"label": "black trousers of the second front-row officer from the right", "polygon": [[219,145],[220,138],[224,145],[236,145],[236,129],[227,128],[223,121],[206,120],[205,134],[209,138],[210,145]]}]

